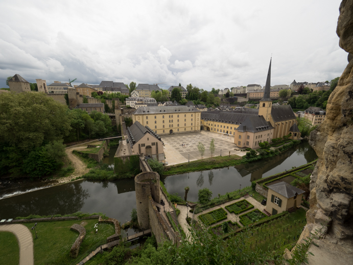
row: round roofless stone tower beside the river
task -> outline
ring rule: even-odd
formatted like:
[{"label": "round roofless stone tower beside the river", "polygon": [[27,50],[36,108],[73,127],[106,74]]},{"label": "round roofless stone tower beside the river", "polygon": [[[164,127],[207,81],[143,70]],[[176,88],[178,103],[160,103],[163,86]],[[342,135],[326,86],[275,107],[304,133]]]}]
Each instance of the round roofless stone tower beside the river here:
[{"label": "round roofless stone tower beside the river", "polygon": [[135,176],[136,210],[138,224],[143,229],[150,228],[149,196],[160,203],[160,183],[157,172],[143,172]]}]

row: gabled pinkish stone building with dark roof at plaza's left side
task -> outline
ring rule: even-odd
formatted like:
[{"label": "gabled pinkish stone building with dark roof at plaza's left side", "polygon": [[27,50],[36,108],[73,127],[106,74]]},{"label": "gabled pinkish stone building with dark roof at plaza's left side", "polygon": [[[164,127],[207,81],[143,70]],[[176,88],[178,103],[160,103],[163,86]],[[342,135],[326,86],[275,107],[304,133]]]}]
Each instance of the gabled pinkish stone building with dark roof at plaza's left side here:
[{"label": "gabled pinkish stone building with dark roof at plaza's left side", "polygon": [[163,142],[150,127],[144,127],[136,121],[127,128],[127,137],[132,154],[144,154],[164,162]]}]

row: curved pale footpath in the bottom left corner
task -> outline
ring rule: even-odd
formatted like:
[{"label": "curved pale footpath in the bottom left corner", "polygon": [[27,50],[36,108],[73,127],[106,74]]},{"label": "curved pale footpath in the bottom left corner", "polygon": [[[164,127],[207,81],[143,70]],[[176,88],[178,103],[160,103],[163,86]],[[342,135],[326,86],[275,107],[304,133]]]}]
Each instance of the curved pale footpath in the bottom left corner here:
[{"label": "curved pale footpath in the bottom left corner", "polygon": [[33,265],[33,239],[31,231],[23,225],[0,225],[0,231],[10,231],[18,239],[19,264]]}]

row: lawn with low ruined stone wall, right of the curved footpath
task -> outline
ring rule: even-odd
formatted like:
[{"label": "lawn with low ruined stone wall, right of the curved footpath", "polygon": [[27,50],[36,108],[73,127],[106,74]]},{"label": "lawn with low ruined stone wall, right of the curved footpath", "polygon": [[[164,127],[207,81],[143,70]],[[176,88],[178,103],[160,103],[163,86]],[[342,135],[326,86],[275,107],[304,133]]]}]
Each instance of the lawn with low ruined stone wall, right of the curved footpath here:
[{"label": "lawn with low ruined stone wall, right of the curved footpath", "polygon": [[[38,238],[36,238],[34,230],[31,230],[34,224],[23,224],[27,226],[32,233],[34,264],[69,265],[74,262],[74,259],[70,257],[70,249],[79,233],[70,230],[73,224],[82,225],[86,229],[86,237],[83,239],[79,252],[79,257],[81,259],[84,258],[88,250],[115,233],[113,225],[99,224],[97,228],[98,234],[96,234],[94,226],[97,223],[98,219],[38,222],[36,227]],[[102,242],[102,244],[104,244],[104,242]]]}]

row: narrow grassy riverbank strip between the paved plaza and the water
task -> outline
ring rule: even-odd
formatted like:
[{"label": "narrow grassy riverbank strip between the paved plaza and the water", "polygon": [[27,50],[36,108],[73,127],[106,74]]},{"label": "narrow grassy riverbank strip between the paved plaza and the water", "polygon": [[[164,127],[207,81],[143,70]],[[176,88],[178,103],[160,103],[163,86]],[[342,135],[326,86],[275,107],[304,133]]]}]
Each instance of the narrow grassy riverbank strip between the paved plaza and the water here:
[{"label": "narrow grassy riverbank strip between the paved plaza and the water", "polygon": [[236,154],[232,154],[230,157],[213,157],[206,158],[203,160],[195,160],[190,163],[182,163],[178,165],[173,165],[170,167],[166,167],[163,175],[174,175],[185,172],[193,172],[193,171],[201,171],[213,168],[227,167],[227,166],[235,166],[243,164],[244,161],[241,157]]}]

